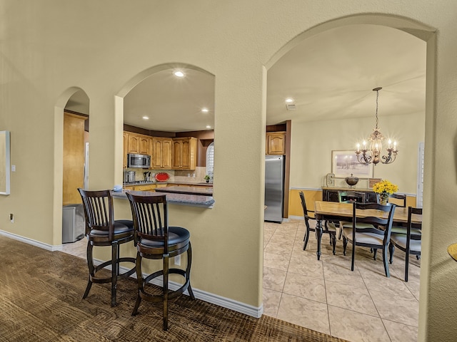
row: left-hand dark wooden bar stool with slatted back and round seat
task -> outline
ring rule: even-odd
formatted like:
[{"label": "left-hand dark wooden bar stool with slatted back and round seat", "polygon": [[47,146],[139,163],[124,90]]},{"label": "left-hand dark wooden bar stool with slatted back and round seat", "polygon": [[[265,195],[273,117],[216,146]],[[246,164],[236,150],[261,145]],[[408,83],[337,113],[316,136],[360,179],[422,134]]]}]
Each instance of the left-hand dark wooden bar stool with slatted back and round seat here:
[{"label": "left-hand dark wooden bar stool with slatted back and round seat", "polygon": [[[121,274],[120,264],[136,263],[132,257],[120,257],[121,244],[134,239],[134,223],[131,219],[114,219],[113,197],[110,190],[78,189],[84,207],[87,238],[87,265],[89,266],[89,281],[84,291],[83,299],[89,295],[93,283],[111,283],[111,306],[116,306],[116,288],[120,279],[134,274],[135,266]],[[111,260],[94,265],[94,246],[111,247]],[[111,266],[111,276],[100,276],[99,271]]]}]

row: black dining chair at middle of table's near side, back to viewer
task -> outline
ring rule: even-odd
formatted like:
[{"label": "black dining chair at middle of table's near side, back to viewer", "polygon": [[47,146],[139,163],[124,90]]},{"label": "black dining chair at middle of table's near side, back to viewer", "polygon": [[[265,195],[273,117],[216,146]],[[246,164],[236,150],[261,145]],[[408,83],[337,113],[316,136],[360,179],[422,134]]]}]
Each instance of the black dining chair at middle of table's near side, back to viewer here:
[{"label": "black dining chair at middle of table's near side, back to viewer", "polygon": [[[343,254],[346,255],[348,242],[352,244],[351,271],[354,270],[354,259],[356,257],[356,246],[373,249],[373,258],[376,260],[378,249],[383,250],[383,264],[386,276],[388,271],[388,244],[391,239],[391,228],[395,205],[381,205],[377,203],[353,203],[352,227],[343,227]],[[378,212],[376,212],[376,210]],[[383,212],[386,214],[380,215]],[[361,215],[361,216],[359,216]],[[387,216],[387,217],[386,217]],[[358,224],[371,224],[372,227],[359,228]],[[381,229],[382,227],[382,229]]]}]

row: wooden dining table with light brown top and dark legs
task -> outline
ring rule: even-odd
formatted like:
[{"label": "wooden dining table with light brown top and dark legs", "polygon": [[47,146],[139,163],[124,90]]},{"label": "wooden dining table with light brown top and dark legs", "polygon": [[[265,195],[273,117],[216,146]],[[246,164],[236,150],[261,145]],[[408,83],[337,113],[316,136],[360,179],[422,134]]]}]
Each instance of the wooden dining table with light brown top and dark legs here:
[{"label": "wooden dining table with light brown top and dark legs", "polygon": [[[326,202],[316,201],[314,202],[314,217],[316,217],[316,239],[317,239],[317,259],[321,259],[321,240],[322,234],[328,233],[327,230],[323,229],[323,221],[348,221],[352,222],[352,203],[340,203],[340,202]],[[357,217],[377,216],[387,217],[388,212],[381,212],[379,210],[363,210]],[[411,217],[413,223],[421,223],[422,215],[413,214]],[[408,222],[408,208],[407,207],[396,207],[393,212],[393,223],[404,224]]]}]

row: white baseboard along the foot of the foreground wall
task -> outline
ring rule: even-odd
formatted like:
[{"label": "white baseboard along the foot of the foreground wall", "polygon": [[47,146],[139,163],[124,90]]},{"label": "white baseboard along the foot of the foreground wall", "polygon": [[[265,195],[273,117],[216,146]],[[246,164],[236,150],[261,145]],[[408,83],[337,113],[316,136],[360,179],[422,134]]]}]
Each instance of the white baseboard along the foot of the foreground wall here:
[{"label": "white baseboard along the foot of the foreground wall", "polygon": [[[50,244],[44,244],[43,242],[39,242],[39,241],[36,241],[34,239],[29,239],[29,238],[26,238],[26,237],[21,237],[19,235],[12,234],[12,233],[9,233],[9,232],[4,232],[3,230],[0,230],[0,235],[4,235],[5,237],[9,237],[11,239],[19,240],[20,242],[24,242],[26,244],[31,244],[31,245],[34,245],[36,247],[40,247],[42,249],[46,249],[46,250],[51,251],[51,252],[61,251],[62,250],[62,245],[52,246]],[[103,261],[101,261],[101,260],[94,259],[94,264],[99,265],[102,262]],[[108,266],[106,268],[107,269],[111,269],[110,266]],[[126,272],[126,271],[129,271],[129,269],[127,269],[126,267],[122,267],[121,266],[121,271],[122,272]],[[146,276],[146,274],[144,274],[144,276]],[[136,279],[136,274],[132,274],[131,277]],[[156,279],[153,279],[153,281],[151,281],[151,283],[154,284],[154,285],[157,285],[157,286],[161,286],[162,285],[160,277],[156,278]],[[181,287],[181,284],[176,283],[176,281],[170,281],[169,282],[169,289],[171,289],[173,291],[176,290],[176,289],[179,289],[180,287]],[[240,312],[241,314],[246,314],[248,316],[253,316],[253,317],[256,317],[256,318],[260,318],[262,316],[262,314],[263,314],[263,304],[261,304],[261,306],[258,306],[258,307],[257,306],[251,306],[251,305],[248,305],[248,304],[245,304],[245,303],[241,303],[240,301],[235,301],[233,299],[229,299],[229,298],[226,298],[226,297],[223,297],[223,296],[219,296],[217,294],[211,294],[211,293],[203,291],[203,290],[194,289],[194,287],[192,288],[192,291],[194,292],[194,296],[195,296],[196,299],[201,299],[202,301],[206,301],[206,302],[211,303],[211,304],[216,304],[218,306],[222,306],[223,308],[231,309],[233,311]],[[189,292],[188,291],[184,292],[184,294],[189,296]]]}]

